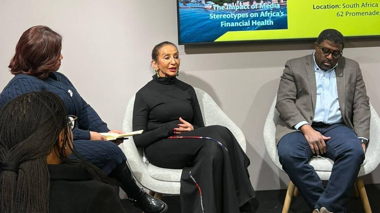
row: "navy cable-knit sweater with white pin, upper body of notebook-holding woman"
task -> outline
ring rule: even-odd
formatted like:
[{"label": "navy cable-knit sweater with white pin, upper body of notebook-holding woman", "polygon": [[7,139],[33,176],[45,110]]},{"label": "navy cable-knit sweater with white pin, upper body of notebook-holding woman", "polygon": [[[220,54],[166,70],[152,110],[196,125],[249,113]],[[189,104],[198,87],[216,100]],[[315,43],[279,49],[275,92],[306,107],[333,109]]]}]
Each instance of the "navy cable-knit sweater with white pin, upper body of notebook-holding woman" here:
[{"label": "navy cable-knit sweater with white pin, upper body of notebook-holding woman", "polygon": [[78,117],[76,128],[73,129],[74,140],[89,140],[90,131],[109,131],[107,124],[82,99],[68,78],[59,72],[51,73],[49,77],[44,79],[25,74],[14,76],[0,94],[0,107],[21,94],[41,90],[48,90],[57,94],[65,103],[67,114]]}]

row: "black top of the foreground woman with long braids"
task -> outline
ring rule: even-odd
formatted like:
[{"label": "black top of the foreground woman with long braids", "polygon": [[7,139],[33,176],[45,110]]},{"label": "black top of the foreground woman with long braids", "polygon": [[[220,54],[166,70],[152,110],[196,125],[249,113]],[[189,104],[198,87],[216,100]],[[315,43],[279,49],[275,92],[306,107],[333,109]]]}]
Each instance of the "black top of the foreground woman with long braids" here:
[{"label": "black top of the foreground woman with long braids", "polygon": [[93,180],[83,167],[48,165],[49,213],[125,213],[111,185]]}]

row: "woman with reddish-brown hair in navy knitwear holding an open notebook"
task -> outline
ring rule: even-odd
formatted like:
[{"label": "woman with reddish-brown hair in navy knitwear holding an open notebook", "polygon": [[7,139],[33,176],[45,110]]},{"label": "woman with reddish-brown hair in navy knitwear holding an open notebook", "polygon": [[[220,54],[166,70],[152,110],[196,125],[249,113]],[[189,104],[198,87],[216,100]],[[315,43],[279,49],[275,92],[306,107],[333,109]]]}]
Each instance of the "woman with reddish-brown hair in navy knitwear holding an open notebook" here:
[{"label": "woman with reddish-brown hair in navy knitwear holding an open notebook", "polygon": [[98,166],[109,177],[121,183],[132,204],[146,213],[165,212],[167,205],[139,188],[126,164],[122,141],[107,141],[99,133],[116,132],[86,103],[68,78],[56,72],[63,56],[62,37],[45,26],[34,26],[25,31],[16,45],[16,53],[9,69],[15,75],[0,94],[0,107],[15,97],[32,91],[48,90],[65,103],[67,113],[78,117],[73,129],[74,148],[85,160]]}]

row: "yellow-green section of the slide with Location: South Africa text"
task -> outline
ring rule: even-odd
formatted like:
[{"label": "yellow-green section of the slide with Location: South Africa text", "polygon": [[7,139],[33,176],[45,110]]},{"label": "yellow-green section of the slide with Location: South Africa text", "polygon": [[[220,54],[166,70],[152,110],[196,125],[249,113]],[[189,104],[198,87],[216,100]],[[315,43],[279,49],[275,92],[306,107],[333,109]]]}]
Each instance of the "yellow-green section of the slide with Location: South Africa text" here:
[{"label": "yellow-green section of the slide with Location: South Africa text", "polygon": [[228,31],[215,41],[316,38],[327,28],[344,36],[380,35],[380,0],[288,0],[287,9],[288,29]]}]

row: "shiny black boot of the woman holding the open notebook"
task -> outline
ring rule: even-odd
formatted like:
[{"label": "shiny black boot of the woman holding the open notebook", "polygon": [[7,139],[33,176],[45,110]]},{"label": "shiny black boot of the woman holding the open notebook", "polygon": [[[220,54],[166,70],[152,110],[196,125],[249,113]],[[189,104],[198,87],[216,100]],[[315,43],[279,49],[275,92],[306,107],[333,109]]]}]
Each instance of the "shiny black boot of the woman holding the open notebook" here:
[{"label": "shiny black boot of the woman holding the open notebook", "polygon": [[145,213],[163,213],[168,209],[161,200],[147,194],[142,188],[136,185],[136,181],[133,178],[133,174],[130,171],[127,163],[123,163],[116,166],[114,170],[109,174],[121,183],[121,188],[127,193],[128,199],[135,207],[141,209]]}]

